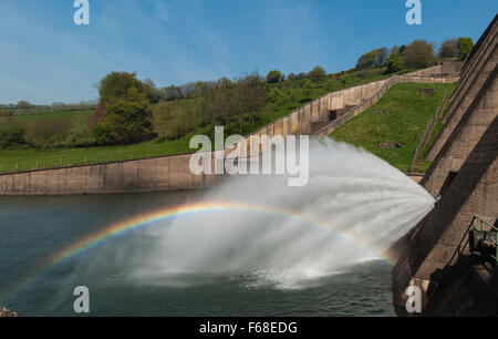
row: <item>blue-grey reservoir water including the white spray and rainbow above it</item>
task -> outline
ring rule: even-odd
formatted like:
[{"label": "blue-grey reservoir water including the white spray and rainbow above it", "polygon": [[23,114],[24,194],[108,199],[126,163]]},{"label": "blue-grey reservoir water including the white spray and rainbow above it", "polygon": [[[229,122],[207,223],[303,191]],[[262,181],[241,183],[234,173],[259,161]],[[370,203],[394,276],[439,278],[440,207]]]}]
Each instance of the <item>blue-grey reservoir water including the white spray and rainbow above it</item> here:
[{"label": "blue-grey reservoir water including the white spray and rainbow above it", "polygon": [[0,305],[21,316],[393,316],[383,251],[434,206],[403,173],[325,142],[310,183],[0,197]]}]

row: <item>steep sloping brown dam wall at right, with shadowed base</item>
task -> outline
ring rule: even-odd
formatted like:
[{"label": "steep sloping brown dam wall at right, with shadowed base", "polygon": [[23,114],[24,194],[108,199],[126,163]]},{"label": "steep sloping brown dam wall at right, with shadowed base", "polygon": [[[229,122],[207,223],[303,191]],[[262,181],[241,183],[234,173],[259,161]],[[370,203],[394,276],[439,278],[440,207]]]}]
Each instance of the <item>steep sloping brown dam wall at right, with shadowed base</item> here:
[{"label": "steep sloping brown dam wall at right, with shadowed base", "polygon": [[423,292],[423,315],[498,315],[497,261],[469,248],[476,217],[498,226],[497,34],[498,17],[466,60],[428,155],[434,162],[421,184],[440,201],[405,237],[393,269],[398,315],[407,315],[405,291],[413,285]]}]

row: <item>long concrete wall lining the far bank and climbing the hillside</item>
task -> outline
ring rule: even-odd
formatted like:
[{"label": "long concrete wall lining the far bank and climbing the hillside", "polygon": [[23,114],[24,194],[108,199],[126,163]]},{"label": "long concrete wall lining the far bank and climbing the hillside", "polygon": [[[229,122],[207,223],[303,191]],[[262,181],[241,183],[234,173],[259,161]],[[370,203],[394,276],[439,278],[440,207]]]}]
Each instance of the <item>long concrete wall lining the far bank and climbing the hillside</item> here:
[{"label": "long concrete wall lining the far bank and climbing the hillside", "polygon": [[[456,82],[460,65],[446,62],[387,80],[325,94],[248,135],[310,135],[324,137],[375,102],[401,82]],[[228,151],[228,150],[227,150]],[[227,152],[226,152],[227,153]],[[191,154],[146,160],[40,170],[0,175],[0,195],[76,195],[156,192],[211,187],[222,175],[194,175]],[[214,157],[214,155],[211,154]]]}]

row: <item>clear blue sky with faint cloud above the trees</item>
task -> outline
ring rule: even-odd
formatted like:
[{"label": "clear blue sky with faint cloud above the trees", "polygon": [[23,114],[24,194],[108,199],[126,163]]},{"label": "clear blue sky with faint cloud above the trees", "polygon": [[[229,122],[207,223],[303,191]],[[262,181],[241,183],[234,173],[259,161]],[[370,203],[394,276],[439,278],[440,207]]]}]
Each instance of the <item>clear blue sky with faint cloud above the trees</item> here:
[{"label": "clear blue sky with faint cloud above the trees", "polygon": [[97,97],[111,71],[157,85],[272,69],[353,68],[378,47],[454,37],[477,40],[496,0],[422,0],[407,25],[405,0],[90,0],[91,24],[73,0],[0,0],[0,103]]}]

